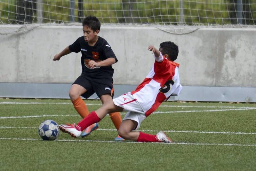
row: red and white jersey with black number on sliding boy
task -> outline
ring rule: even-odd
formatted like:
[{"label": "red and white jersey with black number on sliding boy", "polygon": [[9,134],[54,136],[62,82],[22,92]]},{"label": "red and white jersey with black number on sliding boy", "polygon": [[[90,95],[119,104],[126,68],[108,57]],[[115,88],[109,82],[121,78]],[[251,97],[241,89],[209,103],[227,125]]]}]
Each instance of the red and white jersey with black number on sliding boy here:
[{"label": "red and white jersey with black number on sliding boy", "polygon": [[132,95],[148,116],[168,97],[179,95],[181,89],[179,64],[164,58],[162,62],[155,61],[143,82],[132,91]]}]

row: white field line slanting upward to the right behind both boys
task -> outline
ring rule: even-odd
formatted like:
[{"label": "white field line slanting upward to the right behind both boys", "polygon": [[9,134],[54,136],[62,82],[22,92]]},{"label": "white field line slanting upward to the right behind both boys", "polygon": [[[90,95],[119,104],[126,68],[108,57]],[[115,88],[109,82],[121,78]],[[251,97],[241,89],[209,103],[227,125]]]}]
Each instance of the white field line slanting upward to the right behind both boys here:
[{"label": "white field line slanting upward to the right behind both boys", "polygon": [[[256,107],[241,108],[241,109],[217,109],[217,110],[191,110],[191,111],[168,111],[168,112],[154,112],[152,114],[165,114],[165,113],[192,113],[192,112],[220,112],[220,111],[240,111],[240,110],[255,110]],[[121,113],[125,115],[126,113]],[[78,116],[78,114],[68,115],[34,115],[34,116],[8,116],[0,117],[0,119],[12,119],[12,118],[39,118],[39,117],[58,117],[58,116]]]}]

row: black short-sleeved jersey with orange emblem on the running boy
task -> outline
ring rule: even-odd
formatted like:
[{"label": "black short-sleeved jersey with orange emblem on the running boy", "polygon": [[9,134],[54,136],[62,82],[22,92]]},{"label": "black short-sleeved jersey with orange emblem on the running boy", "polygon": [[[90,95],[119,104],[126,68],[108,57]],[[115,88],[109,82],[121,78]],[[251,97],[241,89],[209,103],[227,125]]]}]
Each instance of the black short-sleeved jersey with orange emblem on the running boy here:
[{"label": "black short-sleeved jersey with orange emblem on the running boy", "polygon": [[98,41],[94,46],[88,45],[84,40],[84,36],[79,37],[76,41],[68,46],[71,52],[82,53],[81,64],[82,64],[82,75],[86,75],[94,79],[112,79],[114,69],[112,66],[95,66],[90,68],[88,62],[94,60],[96,62],[105,60],[107,58],[115,58],[117,62],[116,55],[112,51],[108,42],[99,36]]}]

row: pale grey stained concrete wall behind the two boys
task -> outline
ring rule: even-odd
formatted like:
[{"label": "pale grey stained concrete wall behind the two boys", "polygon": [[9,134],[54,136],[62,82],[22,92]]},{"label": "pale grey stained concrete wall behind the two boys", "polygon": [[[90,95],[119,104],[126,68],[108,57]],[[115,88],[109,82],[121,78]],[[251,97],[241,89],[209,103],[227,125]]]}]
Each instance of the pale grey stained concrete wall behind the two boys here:
[{"label": "pale grey stained concrete wall behind the two boys", "polygon": [[[81,35],[81,26],[43,26],[18,35],[0,35],[0,82],[74,82],[81,74],[81,53],[60,61],[52,58]],[[138,85],[154,62],[148,46],[158,48],[161,42],[172,41],[179,46],[176,62],[182,85],[256,87],[255,28],[200,28],[171,34],[156,27],[103,25],[99,35],[118,58],[113,65],[115,84]]]}]

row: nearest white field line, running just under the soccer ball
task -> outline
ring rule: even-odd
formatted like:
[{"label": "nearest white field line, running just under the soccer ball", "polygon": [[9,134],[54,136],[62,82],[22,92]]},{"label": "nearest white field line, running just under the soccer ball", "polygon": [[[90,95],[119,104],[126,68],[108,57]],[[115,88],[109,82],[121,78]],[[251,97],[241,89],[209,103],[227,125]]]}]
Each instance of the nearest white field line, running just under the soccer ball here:
[{"label": "nearest white field line, running just under the soccer ball", "polygon": [[[43,141],[42,139],[35,139],[35,138],[0,138],[0,140],[16,140],[16,141]],[[63,140],[55,140],[60,142],[97,142],[97,143],[132,143],[132,144],[142,144],[140,142],[134,142],[134,141],[102,141],[102,140],[69,140],[69,139],[63,139]],[[163,144],[163,145],[219,145],[219,146],[256,146],[256,144],[213,144],[213,143],[143,143],[143,144]]]}]

